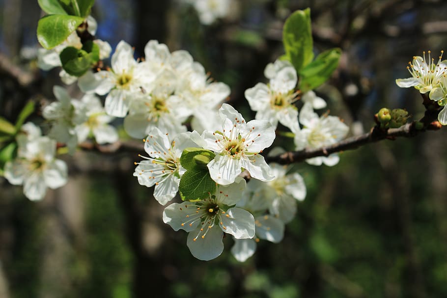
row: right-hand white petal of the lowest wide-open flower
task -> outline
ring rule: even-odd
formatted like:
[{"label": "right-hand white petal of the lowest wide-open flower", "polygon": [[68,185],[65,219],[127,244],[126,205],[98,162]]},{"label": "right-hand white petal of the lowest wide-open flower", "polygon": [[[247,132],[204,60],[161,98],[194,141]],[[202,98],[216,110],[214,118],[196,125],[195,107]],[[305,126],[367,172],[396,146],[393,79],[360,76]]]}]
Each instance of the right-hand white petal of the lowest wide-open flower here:
[{"label": "right-hand white petal of the lowest wide-open flower", "polygon": [[236,239],[253,238],[255,227],[254,217],[247,210],[241,208],[230,208],[225,215],[220,216],[219,223],[225,233],[231,234]]}]

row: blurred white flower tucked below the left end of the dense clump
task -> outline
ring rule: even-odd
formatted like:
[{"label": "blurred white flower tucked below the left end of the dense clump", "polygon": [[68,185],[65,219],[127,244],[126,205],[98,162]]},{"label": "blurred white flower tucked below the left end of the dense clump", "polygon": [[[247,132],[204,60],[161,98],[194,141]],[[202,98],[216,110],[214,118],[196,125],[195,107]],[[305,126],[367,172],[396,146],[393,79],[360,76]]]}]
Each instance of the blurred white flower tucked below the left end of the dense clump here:
[{"label": "blurred white flower tucked below the left end of the dense clump", "polygon": [[99,98],[93,94],[86,94],[81,102],[84,104],[87,120],[75,127],[78,143],[85,141],[90,134],[95,137],[98,144],[116,142],[118,133],[108,124],[113,117],[106,114]]}]

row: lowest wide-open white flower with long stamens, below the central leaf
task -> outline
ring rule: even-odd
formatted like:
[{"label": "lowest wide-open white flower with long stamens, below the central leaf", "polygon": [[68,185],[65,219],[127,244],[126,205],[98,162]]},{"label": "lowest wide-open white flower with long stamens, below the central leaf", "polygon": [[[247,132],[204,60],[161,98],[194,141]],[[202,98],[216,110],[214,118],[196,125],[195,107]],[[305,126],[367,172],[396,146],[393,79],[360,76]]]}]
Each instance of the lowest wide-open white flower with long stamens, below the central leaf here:
[{"label": "lowest wide-open white flower with long stamens, below the central leaf", "polygon": [[197,259],[208,261],[223,251],[223,233],[236,239],[254,236],[254,217],[250,212],[234,206],[246,187],[238,177],[235,183],[218,186],[209,198],[195,202],[174,203],[165,208],[163,221],[175,231],[189,232],[187,245]]}]

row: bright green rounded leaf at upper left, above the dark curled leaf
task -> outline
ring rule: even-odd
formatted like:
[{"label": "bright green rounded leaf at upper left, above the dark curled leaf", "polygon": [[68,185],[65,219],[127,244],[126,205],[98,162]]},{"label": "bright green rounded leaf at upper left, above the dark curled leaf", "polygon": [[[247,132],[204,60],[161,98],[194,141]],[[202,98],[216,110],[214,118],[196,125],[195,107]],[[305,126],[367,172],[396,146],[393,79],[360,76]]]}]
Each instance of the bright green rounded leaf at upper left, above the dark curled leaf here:
[{"label": "bright green rounded leaf at upper left, above the dark curled leaf", "polygon": [[45,49],[52,49],[67,39],[83,22],[84,18],[75,16],[45,16],[37,24],[37,40]]}]

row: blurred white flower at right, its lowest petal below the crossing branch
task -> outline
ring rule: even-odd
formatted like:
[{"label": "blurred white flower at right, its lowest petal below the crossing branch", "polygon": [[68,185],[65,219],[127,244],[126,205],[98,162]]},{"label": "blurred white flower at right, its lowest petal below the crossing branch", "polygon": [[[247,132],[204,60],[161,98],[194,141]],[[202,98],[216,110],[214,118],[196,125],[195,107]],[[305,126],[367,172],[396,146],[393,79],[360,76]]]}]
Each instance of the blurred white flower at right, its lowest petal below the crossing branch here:
[{"label": "blurred white flower at right, its lowest petal below the crossing branch", "polygon": [[[305,148],[316,149],[329,146],[343,139],[349,131],[349,128],[338,117],[318,115],[313,111],[310,103],[306,103],[300,112],[300,122],[304,128],[295,132],[296,150]],[[314,157],[307,159],[306,162],[313,165],[322,163],[332,166],[339,161],[338,154],[334,153],[328,157]]]}]

